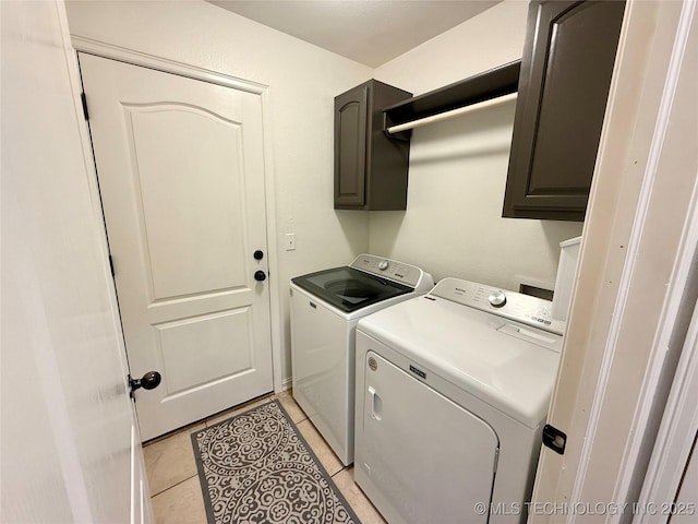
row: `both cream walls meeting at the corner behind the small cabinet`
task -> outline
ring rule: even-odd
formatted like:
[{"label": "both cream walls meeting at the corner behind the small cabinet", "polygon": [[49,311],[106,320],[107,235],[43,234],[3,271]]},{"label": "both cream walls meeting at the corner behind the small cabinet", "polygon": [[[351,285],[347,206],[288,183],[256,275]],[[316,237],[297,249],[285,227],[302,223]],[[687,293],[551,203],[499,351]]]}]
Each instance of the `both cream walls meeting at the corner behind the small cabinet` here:
[{"label": "both cream walls meeting at the corner behind the small cabinet", "polygon": [[[514,105],[416,130],[406,212],[333,209],[333,99],[364,80],[421,94],[520,58],[527,2],[505,1],[372,71],[203,1],[68,1],[71,33],[269,86],[272,279],[281,377],[290,377],[288,282],[370,251],[516,288],[552,287],[558,242],[581,224],[501,218]],[[284,250],[284,234],[297,250]],[[276,329],[276,327],[274,327]]]}]

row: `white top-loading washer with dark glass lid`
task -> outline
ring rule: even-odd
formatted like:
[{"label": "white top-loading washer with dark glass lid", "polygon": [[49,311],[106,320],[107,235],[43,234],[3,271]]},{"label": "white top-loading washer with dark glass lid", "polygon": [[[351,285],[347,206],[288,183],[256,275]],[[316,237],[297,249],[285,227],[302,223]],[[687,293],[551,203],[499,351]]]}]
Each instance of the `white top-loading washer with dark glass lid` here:
[{"label": "white top-loading washer with dark glass lid", "polygon": [[357,322],[433,286],[421,269],[372,254],[291,279],[293,398],[345,465],[353,462]]}]

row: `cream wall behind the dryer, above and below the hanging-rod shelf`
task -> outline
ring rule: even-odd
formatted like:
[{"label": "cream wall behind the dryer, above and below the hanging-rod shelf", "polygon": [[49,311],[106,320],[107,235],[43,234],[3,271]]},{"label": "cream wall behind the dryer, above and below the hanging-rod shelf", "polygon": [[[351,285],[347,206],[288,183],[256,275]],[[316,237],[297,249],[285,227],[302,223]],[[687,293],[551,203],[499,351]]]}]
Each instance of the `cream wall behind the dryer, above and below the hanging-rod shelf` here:
[{"label": "cream wall behind the dryer, above and below the hanging-rod shelf", "polygon": [[[377,68],[414,95],[521,58],[528,2],[505,1]],[[374,212],[370,251],[436,279],[457,276],[518,289],[552,288],[559,242],[581,223],[502,218],[515,104],[413,131],[405,212]]]}]

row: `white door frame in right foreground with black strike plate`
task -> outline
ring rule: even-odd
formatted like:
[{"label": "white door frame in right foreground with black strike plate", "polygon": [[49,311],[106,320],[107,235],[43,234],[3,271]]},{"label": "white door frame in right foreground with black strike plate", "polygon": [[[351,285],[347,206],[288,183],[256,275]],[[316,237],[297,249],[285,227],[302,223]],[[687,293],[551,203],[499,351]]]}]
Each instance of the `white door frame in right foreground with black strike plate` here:
[{"label": "white door frame in right foreground with black strike plate", "polygon": [[[653,409],[654,395],[673,382],[679,390],[669,398],[665,416],[683,407],[685,362],[695,360],[698,346],[686,341],[684,364],[676,373],[671,365],[663,366],[671,364],[670,353],[676,352],[670,343],[681,346],[681,341],[670,338],[678,334],[679,310],[691,293],[690,275],[698,253],[698,182],[683,179],[690,188],[678,194],[682,188],[672,186],[676,178],[666,176],[662,154],[677,147],[686,154],[683,146],[690,140],[666,131],[672,110],[682,110],[674,106],[674,95],[682,66],[686,67],[683,57],[695,5],[696,0],[627,3],[564,342],[566,361],[561,364],[550,415],[551,424],[567,431],[568,445],[564,455],[543,449],[534,503],[573,507],[589,501],[614,504],[606,505],[611,509],[647,501],[647,495],[638,491],[662,417],[661,410]],[[637,79],[642,79],[639,86]],[[630,96],[623,96],[628,93]],[[694,174],[686,168],[686,175]],[[676,200],[685,210],[681,209],[681,216],[670,215],[671,222],[662,225],[672,235],[666,242],[652,227],[652,218],[658,212],[674,210]],[[664,257],[657,257],[660,252]],[[655,279],[660,274],[669,277],[663,293],[649,296],[636,286],[652,272]],[[646,325],[639,329],[642,322]],[[652,340],[638,340],[637,333],[643,330],[652,332]],[[629,352],[631,347],[636,350]],[[640,380],[624,385],[627,370],[637,372],[638,366],[642,368]],[[621,412],[629,417],[621,420]],[[609,431],[610,427],[615,430]],[[660,429],[659,438],[666,440],[665,433]],[[690,439],[693,442],[693,436]],[[669,477],[658,477],[654,465],[647,473],[648,481],[659,483],[654,493],[670,490]],[[628,507],[625,515],[609,512],[604,522],[625,522],[631,510]],[[578,516],[561,511],[534,515],[529,522],[571,523]]]}]

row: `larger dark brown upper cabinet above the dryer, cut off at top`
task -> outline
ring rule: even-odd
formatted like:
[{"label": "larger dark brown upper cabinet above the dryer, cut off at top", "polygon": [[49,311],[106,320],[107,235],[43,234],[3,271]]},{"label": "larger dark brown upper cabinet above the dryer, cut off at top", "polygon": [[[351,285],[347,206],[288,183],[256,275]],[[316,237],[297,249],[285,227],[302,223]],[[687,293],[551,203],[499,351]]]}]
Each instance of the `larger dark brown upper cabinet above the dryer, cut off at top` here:
[{"label": "larger dark brown upper cabinet above the dryer, cut off at top", "polygon": [[585,219],[624,11],[530,3],[503,216]]}]

